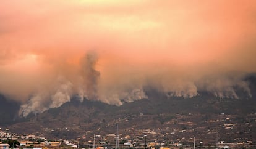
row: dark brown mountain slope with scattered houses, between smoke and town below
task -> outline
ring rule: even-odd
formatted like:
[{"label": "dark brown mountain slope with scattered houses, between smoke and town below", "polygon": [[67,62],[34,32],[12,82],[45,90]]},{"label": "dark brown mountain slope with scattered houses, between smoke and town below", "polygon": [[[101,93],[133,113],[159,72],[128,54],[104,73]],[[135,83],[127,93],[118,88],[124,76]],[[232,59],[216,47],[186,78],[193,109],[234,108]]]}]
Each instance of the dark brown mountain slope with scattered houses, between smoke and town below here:
[{"label": "dark brown mountain slope with scattered houses, between smoke and town below", "polygon": [[[246,129],[244,123],[248,121],[247,119],[252,119],[252,123],[255,123],[253,119],[256,118],[254,115],[256,113],[256,77],[250,76],[245,79],[250,81],[252,98],[220,99],[207,92],[200,92],[200,95],[192,98],[168,98],[154,89],[147,89],[148,99],[116,106],[86,99],[80,103],[74,97],[59,108],[51,108],[38,115],[29,115],[26,121],[12,124],[10,127],[14,132],[22,134],[33,133],[49,138],[74,139],[85,134],[93,136],[93,134],[113,133],[117,123],[122,131],[126,131],[124,133],[130,129],[158,130],[160,128],[163,132],[169,133],[170,130],[167,128],[173,127],[176,128],[175,130],[184,128],[194,130],[193,135],[200,135],[208,129],[225,132],[226,129],[221,126],[223,123],[236,123],[237,128],[233,129],[234,132],[231,131],[234,137],[256,138],[248,133],[236,134]],[[226,121],[226,115],[233,118],[233,121]],[[215,124],[208,123],[216,119],[223,120]],[[185,123],[193,125],[187,126]]]}]

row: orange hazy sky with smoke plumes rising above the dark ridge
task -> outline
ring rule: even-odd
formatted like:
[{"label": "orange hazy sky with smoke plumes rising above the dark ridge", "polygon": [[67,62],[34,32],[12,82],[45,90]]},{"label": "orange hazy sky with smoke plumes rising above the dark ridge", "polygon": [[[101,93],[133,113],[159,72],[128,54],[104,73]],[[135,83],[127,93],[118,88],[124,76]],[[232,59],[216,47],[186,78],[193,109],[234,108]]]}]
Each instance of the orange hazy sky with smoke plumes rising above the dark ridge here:
[{"label": "orange hazy sky with smoke plumes rising above the dark ridge", "polygon": [[21,113],[72,95],[120,105],[151,86],[193,97],[250,94],[256,1],[0,1],[0,92]]}]

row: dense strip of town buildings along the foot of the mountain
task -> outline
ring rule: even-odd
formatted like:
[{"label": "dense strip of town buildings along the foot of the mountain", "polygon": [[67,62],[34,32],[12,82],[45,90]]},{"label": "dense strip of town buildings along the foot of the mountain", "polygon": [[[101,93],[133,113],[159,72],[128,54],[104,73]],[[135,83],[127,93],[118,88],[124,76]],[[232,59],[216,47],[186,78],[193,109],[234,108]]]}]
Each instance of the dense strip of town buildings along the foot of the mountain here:
[{"label": "dense strip of town buildings along the foot of the mountain", "polygon": [[[225,129],[231,129],[233,124],[224,124]],[[67,128],[65,128],[67,129]],[[135,131],[134,135],[119,133],[118,125],[117,132],[113,134],[95,134],[83,135],[77,139],[46,139],[43,136],[36,136],[34,134],[15,134],[11,129],[0,128],[0,149],[9,148],[33,148],[33,149],[48,149],[48,148],[151,148],[151,149],[170,149],[170,148],[251,148],[256,147],[256,143],[250,140],[246,142],[224,142],[218,140],[216,134],[215,143],[205,143],[195,137],[182,137],[181,139],[159,139],[159,132],[145,129]],[[179,132],[186,132],[185,129]],[[170,134],[175,134],[171,132]],[[166,134],[164,134],[166,135]]]}]

